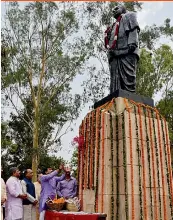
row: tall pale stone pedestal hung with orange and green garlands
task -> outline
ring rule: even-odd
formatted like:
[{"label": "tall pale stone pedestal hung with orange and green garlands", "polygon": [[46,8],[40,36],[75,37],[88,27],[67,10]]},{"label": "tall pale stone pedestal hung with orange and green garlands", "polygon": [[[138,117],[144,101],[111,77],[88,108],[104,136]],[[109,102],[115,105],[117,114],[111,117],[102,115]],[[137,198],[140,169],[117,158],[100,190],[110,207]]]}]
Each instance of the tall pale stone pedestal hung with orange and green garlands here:
[{"label": "tall pale stone pedestal hung with orange and green garlands", "polygon": [[168,127],[159,112],[114,98],[80,126],[79,197],[107,220],[170,220],[173,184]]}]

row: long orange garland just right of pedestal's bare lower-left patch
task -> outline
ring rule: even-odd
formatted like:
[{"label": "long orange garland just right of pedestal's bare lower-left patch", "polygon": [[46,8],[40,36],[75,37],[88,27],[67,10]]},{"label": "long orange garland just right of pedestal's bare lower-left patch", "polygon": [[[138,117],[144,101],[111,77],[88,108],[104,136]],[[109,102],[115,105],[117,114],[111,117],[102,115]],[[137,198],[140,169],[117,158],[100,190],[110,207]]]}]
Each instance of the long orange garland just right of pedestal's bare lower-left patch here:
[{"label": "long orange garland just right of pedestal's bare lower-left patch", "polygon": [[96,130],[96,133],[97,133],[97,145],[96,145],[96,147],[97,147],[97,155],[96,155],[96,157],[97,157],[97,159],[96,159],[96,163],[97,163],[97,165],[96,165],[96,190],[95,190],[95,211],[96,212],[98,212],[98,174],[99,174],[99,165],[100,165],[100,163],[99,163],[99,161],[100,161],[100,126],[101,126],[101,111],[100,111],[100,109],[98,109],[97,110],[97,118],[98,118],[98,120],[97,120],[97,122],[98,122],[98,127],[97,127],[97,125],[96,125],[96,128],[97,128],[97,130]]}]

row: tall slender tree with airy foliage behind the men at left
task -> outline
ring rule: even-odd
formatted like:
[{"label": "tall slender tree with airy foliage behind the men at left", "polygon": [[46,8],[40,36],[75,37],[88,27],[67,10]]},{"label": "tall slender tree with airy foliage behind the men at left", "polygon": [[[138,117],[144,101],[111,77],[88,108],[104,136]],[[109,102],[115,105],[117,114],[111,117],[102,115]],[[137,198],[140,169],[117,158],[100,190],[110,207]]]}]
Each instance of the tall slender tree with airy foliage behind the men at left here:
[{"label": "tall slender tree with airy foliage behind the men at left", "polygon": [[[11,2],[6,11],[2,28],[3,96],[32,131],[34,180],[42,149],[41,125],[53,114],[57,141],[62,126],[80,110],[81,97],[71,95],[70,83],[83,72],[87,48],[83,37],[75,36],[77,32],[76,11],[70,3],[35,2],[20,9],[17,2]],[[20,105],[16,104],[18,99]],[[27,112],[25,117],[20,114],[27,99],[33,107],[31,117]],[[61,123],[56,129],[58,116]]]}]

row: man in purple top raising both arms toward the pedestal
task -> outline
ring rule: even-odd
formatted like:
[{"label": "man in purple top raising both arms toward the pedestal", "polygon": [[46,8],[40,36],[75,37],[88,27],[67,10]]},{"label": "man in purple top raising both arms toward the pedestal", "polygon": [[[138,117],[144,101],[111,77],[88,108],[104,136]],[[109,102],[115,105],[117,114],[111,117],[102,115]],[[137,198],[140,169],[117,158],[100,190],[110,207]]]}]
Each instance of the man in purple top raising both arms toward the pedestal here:
[{"label": "man in purple top raising both arms toward the pedestal", "polygon": [[43,172],[40,182],[41,182],[41,194],[40,194],[40,203],[39,203],[39,220],[44,220],[45,210],[47,209],[46,200],[48,197],[54,199],[56,197],[56,187],[57,183],[65,178],[65,174],[60,177],[57,177],[58,172],[64,167],[60,165],[59,169],[52,171],[52,168],[46,168]]}]

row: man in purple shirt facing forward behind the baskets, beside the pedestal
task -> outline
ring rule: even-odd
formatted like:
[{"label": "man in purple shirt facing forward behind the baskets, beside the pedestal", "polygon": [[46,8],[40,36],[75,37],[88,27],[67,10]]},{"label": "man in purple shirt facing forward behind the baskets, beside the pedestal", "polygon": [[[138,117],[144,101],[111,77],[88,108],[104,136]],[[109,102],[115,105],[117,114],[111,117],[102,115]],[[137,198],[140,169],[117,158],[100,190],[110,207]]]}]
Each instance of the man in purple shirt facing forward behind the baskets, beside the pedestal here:
[{"label": "man in purple shirt facing forward behind the baskets, beside the pedestal", "polygon": [[57,194],[65,199],[74,198],[77,195],[77,181],[71,176],[69,169],[65,172],[65,179],[58,183]]}]

